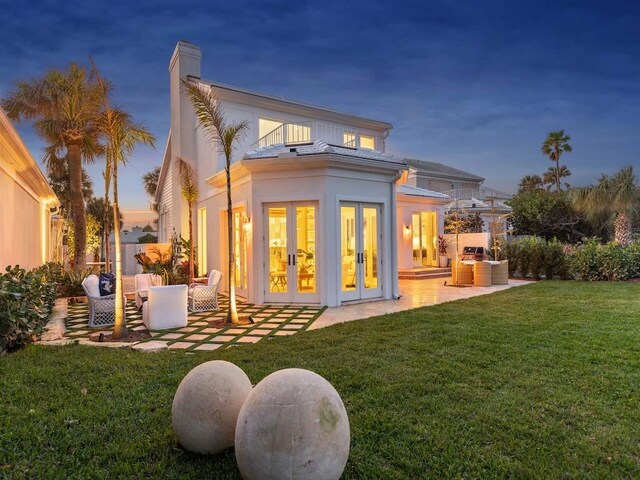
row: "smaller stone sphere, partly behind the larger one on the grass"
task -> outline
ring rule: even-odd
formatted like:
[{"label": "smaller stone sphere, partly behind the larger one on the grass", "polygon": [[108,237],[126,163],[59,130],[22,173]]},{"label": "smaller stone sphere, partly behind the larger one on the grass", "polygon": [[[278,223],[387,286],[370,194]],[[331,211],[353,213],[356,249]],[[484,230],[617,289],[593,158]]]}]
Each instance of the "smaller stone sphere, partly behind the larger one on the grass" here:
[{"label": "smaller stone sphere, partly behind the larger one on the grass", "polygon": [[236,365],[221,360],[191,370],[173,397],[171,420],[178,442],[201,454],[233,446],[238,413],[251,392],[251,380]]}]

